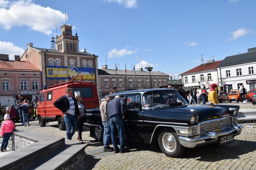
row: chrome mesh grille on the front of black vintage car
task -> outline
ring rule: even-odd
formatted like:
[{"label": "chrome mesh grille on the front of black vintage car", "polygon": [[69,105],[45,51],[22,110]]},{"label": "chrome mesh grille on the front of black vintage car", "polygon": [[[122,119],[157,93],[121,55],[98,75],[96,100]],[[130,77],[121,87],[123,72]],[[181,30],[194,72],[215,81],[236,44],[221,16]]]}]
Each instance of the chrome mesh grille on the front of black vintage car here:
[{"label": "chrome mesh grille on the front of black vintage car", "polygon": [[204,131],[214,131],[218,132],[227,129],[229,125],[232,125],[232,116],[223,117],[214,120],[208,120],[205,122],[200,122],[200,134]]}]

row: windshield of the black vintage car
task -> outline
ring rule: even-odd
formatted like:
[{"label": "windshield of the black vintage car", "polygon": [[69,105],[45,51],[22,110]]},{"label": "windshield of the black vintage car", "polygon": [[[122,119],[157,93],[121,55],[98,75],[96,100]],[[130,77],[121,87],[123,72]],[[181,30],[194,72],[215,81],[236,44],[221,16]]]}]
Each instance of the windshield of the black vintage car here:
[{"label": "windshield of the black vintage car", "polygon": [[172,103],[187,103],[176,90],[156,90],[143,94],[143,107]]}]

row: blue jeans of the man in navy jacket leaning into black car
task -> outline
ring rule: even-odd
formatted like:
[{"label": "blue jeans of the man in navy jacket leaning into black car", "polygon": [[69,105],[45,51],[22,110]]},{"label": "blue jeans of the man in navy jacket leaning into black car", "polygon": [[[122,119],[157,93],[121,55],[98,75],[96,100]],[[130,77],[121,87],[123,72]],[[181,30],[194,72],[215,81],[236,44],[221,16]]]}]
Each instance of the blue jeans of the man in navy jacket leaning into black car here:
[{"label": "blue jeans of the man in navy jacket leaning into black car", "polygon": [[112,139],[112,144],[114,146],[114,149],[118,148],[117,143],[116,143],[116,130],[119,131],[119,141],[120,141],[120,149],[124,149],[124,141],[125,141],[125,127],[124,127],[124,122],[123,119],[120,115],[112,115],[109,118],[109,124],[111,128],[111,139]]}]

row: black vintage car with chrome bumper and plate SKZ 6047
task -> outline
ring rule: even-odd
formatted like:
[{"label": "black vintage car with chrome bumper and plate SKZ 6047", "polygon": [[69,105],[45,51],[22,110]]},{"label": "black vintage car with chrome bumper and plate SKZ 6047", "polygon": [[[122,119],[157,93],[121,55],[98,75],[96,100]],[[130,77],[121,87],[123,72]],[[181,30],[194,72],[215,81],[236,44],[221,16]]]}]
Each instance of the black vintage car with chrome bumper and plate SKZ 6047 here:
[{"label": "black vintage car with chrome bumper and plate SKZ 6047", "polygon": [[[126,139],[158,144],[169,157],[182,155],[186,147],[222,143],[242,132],[239,106],[189,105],[176,89],[145,89],[110,94],[126,103]],[[87,109],[85,128],[102,142],[104,127],[99,109]]]}]

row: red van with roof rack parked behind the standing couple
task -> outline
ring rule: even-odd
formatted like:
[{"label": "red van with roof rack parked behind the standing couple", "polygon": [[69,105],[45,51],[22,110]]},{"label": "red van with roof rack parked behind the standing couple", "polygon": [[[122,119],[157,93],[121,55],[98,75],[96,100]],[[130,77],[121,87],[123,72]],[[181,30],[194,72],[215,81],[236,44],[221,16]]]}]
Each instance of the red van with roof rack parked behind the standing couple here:
[{"label": "red van with roof rack parked behind the standing couple", "polygon": [[53,102],[61,96],[65,95],[66,89],[68,87],[73,88],[74,97],[77,94],[82,96],[82,100],[84,101],[86,109],[98,107],[99,98],[97,87],[92,82],[74,82],[72,80],[69,82],[50,86],[48,89],[40,92],[40,100],[36,110],[36,116],[41,127],[46,125],[46,121],[57,120],[60,130],[66,130],[63,113],[53,105]]}]

